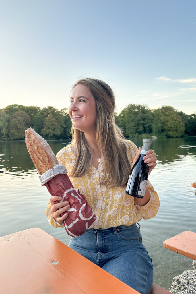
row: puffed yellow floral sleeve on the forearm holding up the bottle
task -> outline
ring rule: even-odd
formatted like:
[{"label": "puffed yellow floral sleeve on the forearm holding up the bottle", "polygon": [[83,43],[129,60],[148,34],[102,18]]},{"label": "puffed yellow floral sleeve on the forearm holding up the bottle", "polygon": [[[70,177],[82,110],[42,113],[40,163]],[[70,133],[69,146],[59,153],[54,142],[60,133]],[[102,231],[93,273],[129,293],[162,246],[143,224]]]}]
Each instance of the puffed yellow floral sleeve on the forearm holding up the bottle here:
[{"label": "puffed yellow floral sleeve on the forearm holding up the bottle", "polygon": [[159,196],[157,192],[154,190],[150,181],[148,181],[147,187],[150,191],[150,199],[148,203],[146,203],[144,206],[139,206],[135,203],[135,208],[138,209],[143,219],[150,219],[156,216],[160,207]]}]

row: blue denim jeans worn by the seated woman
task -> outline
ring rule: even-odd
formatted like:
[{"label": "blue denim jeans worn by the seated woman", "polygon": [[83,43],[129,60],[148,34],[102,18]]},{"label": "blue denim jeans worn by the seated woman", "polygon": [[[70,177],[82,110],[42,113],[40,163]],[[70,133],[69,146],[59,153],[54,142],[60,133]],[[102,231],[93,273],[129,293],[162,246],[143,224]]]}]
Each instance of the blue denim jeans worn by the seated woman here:
[{"label": "blue denim jeans worn by the seated woman", "polygon": [[[141,294],[153,284],[152,259],[136,223],[108,229],[88,229],[72,237],[69,247]],[[89,273],[90,274],[90,273]]]}]

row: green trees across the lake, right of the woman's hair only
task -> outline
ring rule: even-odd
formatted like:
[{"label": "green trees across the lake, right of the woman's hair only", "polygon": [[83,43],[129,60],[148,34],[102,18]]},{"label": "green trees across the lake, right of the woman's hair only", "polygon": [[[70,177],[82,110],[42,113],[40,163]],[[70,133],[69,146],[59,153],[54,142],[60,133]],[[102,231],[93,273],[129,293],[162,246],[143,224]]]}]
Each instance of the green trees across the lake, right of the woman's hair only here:
[{"label": "green trees across the lake, right of the woman's hair only", "polygon": [[188,115],[172,106],[150,109],[145,104],[129,104],[116,116],[116,124],[126,138],[143,134],[158,138],[196,136],[196,113]]}]

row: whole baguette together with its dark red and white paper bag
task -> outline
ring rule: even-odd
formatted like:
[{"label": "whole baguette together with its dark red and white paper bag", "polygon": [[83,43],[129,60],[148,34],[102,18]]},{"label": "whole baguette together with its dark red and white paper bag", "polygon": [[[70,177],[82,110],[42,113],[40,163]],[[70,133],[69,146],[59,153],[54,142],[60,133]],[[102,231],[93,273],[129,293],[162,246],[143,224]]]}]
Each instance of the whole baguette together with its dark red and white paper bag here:
[{"label": "whole baguette together with its dark red and white paper bag", "polygon": [[[65,166],[58,161],[50,146],[32,128],[25,132],[25,142],[31,159],[40,174],[41,186],[46,186],[52,196],[69,201],[68,217],[63,221],[68,235],[82,235],[96,220],[92,208],[80,191],[73,187]],[[63,216],[66,212],[61,214]]]}]

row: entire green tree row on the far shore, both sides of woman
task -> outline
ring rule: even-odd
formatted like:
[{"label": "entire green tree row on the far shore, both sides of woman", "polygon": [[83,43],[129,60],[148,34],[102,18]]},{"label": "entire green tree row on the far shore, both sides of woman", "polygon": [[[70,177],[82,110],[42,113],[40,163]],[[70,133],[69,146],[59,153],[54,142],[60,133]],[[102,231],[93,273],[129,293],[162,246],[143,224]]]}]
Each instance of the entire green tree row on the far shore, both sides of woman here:
[{"label": "entire green tree row on the far shore, both sides of woman", "polygon": [[[145,104],[129,104],[117,115],[116,124],[126,138],[158,138],[196,136],[196,113],[187,115],[172,106],[150,109]],[[32,127],[45,139],[71,138],[68,109],[53,106],[8,105],[0,109],[1,140],[24,140],[24,132]]]}]

